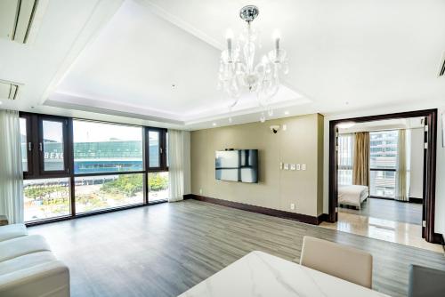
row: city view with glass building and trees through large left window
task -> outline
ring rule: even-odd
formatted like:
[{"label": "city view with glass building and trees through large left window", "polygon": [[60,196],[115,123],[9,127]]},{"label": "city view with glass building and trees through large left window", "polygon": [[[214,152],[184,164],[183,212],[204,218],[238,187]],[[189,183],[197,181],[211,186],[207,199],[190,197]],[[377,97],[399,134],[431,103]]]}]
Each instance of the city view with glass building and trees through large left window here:
[{"label": "city view with glass building and trees through large left window", "polygon": [[[79,121],[80,122],[80,121]],[[20,121],[20,124],[26,124]],[[44,123],[45,124],[45,123]],[[49,122],[43,144],[44,170],[56,172],[64,168],[64,144],[57,133],[56,122]],[[80,123],[85,125],[85,123]],[[89,123],[87,123],[89,124]],[[53,126],[52,126],[53,125]],[[91,123],[94,128],[106,124]],[[76,126],[75,126],[76,128]],[[108,208],[143,203],[144,170],[142,151],[142,129],[139,127],[119,127],[123,130],[122,139],[85,136],[84,141],[74,142],[74,184],[69,177],[48,178],[24,181],[25,221],[36,221],[69,215],[70,187],[75,187],[76,213],[88,213]],[[127,131],[125,131],[125,129]],[[137,131],[132,131],[137,130]],[[25,130],[23,130],[25,131]],[[81,129],[77,129],[81,131]],[[99,132],[98,132],[99,134]],[[133,136],[132,136],[133,135]],[[125,140],[125,137],[127,138]],[[159,139],[157,132],[150,132],[149,162],[159,166]],[[23,170],[28,170],[26,132],[21,135]],[[125,174],[128,172],[129,174]],[[98,173],[117,173],[104,174]],[[88,175],[92,174],[92,175]],[[80,176],[76,176],[80,175]],[[168,197],[168,172],[148,173],[147,187],[149,202]]]}]

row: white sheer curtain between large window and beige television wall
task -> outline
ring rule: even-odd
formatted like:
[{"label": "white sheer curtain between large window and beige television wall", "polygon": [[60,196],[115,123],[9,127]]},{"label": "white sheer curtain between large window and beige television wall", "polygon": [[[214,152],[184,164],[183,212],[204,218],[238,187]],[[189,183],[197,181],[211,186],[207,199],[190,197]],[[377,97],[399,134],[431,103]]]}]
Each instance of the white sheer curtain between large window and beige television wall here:
[{"label": "white sheer curtain between large window and beige television wall", "polygon": [[184,132],[168,130],[168,202],[180,201],[184,195]]}]

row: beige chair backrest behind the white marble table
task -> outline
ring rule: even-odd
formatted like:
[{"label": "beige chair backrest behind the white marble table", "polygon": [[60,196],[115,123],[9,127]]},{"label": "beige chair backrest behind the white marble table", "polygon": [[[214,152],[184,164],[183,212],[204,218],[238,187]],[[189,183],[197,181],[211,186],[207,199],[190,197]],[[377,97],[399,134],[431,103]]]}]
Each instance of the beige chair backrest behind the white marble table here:
[{"label": "beige chair backrest behind the white marble table", "polygon": [[372,287],[372,255],[315,237],[303,237],[300,264],[357,285]]}]

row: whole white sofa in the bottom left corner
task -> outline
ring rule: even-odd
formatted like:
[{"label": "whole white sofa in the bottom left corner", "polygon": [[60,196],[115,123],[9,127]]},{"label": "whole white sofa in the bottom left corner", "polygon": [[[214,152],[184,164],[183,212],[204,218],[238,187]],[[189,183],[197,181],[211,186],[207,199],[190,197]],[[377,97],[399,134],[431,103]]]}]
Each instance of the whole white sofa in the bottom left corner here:
[{"label": "whole white sofa in the bottom left corner", "polygon": [[0,296],[69,296],[68,267],[22,224],[0,227]]}]

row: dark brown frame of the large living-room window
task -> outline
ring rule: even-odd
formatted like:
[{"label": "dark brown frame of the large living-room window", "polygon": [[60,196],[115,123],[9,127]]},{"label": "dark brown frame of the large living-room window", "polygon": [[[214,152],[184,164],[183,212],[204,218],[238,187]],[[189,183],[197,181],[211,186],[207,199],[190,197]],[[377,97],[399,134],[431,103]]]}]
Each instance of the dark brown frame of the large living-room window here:
[{"label": "dark brown frame of the large living-room window", "polygon": [[[109,213],[118,210],[124,210],[133,207],[154,205],[158,203],[166,202],[166,200],[149,201],[149,186],[148,178],[149,173],[168,172],[168,166],[166,161],[166,133],[167,129],[143,126],[137,124],[122,124],[107,121],[96,121],[84,118],[74,118],[68,116],[51,116],[44,114],[20,112],[20,117],[27,119],[27,142],[30,143],[31,150],[27,150],[28,153],[28,172],[23,172],[24,180],[39,180],[39,179],[51,179],[51,178],[69,178],[69,191],[70,191],[70,209],[71,213],[68,216],[53,217],[50,219],[28,221],[28,226],[41,224],[51,221],[69,220],[78,217],[84,217],[87,215],[98,213]],[[55,121],[63,123],[63,148],[64,148],[64,166],[63,171],[44,171],[44,147],[43,147],[43,121]],[[128,171],[128,172],[106,172],[106,173],[75,173],[74,172],[74,128],[73,121],[82,120],[95,122],[98,124],[122,124],[128,126],[135,126],[142,128],[142,167],[141,171]],[[149,147],[149,132],[159,132],[159,166],[150,167],[150,147]],[[42,143],[42,150],[39,149],[39,145]],[[123,205],[118,207],[110,207],[106,209],[100,209],[97,211],[91,211],[87,213],[76,212],[76,182],[75,179],[79,177],[93,177],[102,175],[125,175],[125,174],[142,174],[143,178],[143,202],[133,205]]]}]

